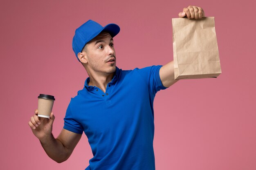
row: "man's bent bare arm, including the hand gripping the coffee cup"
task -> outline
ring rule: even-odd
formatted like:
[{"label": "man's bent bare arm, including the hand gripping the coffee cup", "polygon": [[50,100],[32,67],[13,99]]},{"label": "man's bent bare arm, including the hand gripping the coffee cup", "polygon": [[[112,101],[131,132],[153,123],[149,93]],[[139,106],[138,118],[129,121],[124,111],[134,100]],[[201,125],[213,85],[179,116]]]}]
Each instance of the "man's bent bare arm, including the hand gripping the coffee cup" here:
[{"label": "man's bent bare arm, including the hand gripping the coffee cup", "polygon": [[29,126],[34,135],[39,139],[47,155],[54,161],[61,163],[72,154],[76,144],[81,139],[81,134],[63,129],[55,139],[52,135],[52,124],[55,119],[53,113],[50,119],[35,115],[30,118]]}]

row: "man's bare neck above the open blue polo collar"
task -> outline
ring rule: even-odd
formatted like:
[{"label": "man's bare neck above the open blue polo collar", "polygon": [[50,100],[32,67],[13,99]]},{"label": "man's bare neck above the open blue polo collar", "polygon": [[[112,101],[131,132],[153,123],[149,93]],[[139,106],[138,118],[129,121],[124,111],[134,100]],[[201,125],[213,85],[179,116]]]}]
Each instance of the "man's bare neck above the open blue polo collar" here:
[{"label": "man's bare neck above the open blue polo collar", "polygon": [[112,81],[112,78],[115,75],[114,73],[109,73],[106,75],[100,75],[100,74],[92,74],[92,73],[88,73],[89,77],[90,77],[90,82],[88,83],[89,86],[96,86],[98,88],[101,89],[101,91],[103,91],[104,93],[106,93],[106,88],[109,82]]}]

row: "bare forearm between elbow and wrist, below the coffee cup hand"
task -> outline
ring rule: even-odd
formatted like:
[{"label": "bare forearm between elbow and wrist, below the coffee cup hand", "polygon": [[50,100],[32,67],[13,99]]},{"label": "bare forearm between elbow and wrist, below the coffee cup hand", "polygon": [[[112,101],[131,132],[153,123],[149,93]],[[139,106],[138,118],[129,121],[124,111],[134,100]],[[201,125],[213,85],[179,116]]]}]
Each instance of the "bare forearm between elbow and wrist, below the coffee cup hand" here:
[{"label": "bare forearm between elbow and wrist, below the coffee cup hand", "polygon": [[40,143],[43,146],[46,154],[54,161],[61,163],[70,157],[65,146],[58,139],[55,139],[51,134],[44,139],[40,139]]}]

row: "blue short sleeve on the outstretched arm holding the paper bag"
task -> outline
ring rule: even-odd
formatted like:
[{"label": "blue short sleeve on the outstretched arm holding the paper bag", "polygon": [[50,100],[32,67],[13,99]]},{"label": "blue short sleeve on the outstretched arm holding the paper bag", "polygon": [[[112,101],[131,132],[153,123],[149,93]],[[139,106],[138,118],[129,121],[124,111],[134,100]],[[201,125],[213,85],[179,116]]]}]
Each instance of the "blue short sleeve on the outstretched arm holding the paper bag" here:
[{"label": "blue short sleeve on the outstretched arm holding the paper bag", "polygon": [[160,79],[159,70],[161,67],[161,65],[158,65],[138,69],[139,75],[141,75],[141,77],[145,79],[150,89],[150,92],[153,95],[155,95],[158,91],[167,88],[163,86],[162,81]]}]

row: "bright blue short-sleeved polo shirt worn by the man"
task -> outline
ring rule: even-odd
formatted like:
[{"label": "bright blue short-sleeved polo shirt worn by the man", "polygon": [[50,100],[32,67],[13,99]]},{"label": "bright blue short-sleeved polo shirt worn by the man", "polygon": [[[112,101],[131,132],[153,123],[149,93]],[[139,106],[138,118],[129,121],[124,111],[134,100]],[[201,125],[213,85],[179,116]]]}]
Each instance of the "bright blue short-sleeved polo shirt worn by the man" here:
[{"label": "bright blue short-sleeved polo shirt worn by the man", "polygon": [[153,101],[161,66],[117,68],[106,93],[85,86],[71,99],[64,129],[83,132],[93,157],[85,170],[155,170]]}]

